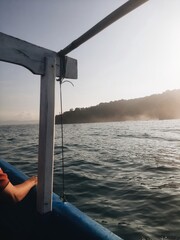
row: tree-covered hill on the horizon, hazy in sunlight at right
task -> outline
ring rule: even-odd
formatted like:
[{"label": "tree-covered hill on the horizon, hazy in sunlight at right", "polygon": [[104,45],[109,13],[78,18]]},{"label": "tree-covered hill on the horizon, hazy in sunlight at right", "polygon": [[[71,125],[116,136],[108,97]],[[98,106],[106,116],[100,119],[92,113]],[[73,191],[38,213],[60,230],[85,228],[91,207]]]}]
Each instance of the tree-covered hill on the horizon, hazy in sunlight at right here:
[{"label": "tree-covered hill on the horizon, hazy in sunlight at right", "polygon": [[[180,89],[130,100],[100,103],[63,113],[63,123],[180,119]],[[56,115],[55,123],[61,123]]]}]

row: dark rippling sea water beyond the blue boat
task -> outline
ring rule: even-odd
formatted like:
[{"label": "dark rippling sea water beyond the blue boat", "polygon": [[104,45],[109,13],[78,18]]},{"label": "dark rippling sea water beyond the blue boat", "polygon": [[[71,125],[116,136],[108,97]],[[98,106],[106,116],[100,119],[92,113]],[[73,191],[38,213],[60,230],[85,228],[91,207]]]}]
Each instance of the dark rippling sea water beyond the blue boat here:
[{"label": "dark rippling sea water beyond the blue boat", "polygon": [[[54,185],[124,240],[180,240],[180,120],[55,126]],[[38,125],[0,126],[0,158],[37,174]],[[63,186],[64,182],[64,186]]]}]

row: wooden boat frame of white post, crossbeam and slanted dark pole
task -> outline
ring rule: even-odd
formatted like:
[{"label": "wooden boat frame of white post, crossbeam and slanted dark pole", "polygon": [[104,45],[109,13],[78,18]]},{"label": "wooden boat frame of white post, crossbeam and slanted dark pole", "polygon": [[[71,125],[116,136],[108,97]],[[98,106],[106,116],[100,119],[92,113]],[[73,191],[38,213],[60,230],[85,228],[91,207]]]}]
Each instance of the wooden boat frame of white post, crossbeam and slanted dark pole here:
[{"label": "wooden boat frame of white post, crossbeam and slanted dark pole", "polygon": [[[54,105],[56,77],[77,78],[77,60],[66,54],[148,0],[129,0],[60,52],[0,33],[0,61],[24,66],[41,75],[37,211],[52,211]],[[63,65],[63,67],[62,67]]]}]

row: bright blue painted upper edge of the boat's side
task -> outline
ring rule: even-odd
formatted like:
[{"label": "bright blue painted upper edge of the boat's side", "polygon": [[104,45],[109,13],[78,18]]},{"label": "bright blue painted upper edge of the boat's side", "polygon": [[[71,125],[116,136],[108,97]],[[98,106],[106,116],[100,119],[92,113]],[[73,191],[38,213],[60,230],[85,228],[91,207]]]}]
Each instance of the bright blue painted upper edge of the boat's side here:
[{"label": "bright blue painted upper edge of the boat's side", "polygon": [[[0,167],[6,171],[13,183],[23,182],[28,176],[15,168],[10,163],[0,159]],[[59,218],[64,217],[71,222],[77,229],[83,229],[90,235],[94,235],[98,240],[123,240],[116,234],[112,233],[101,224],[90,218],[88,215],[80,211],[74,205],[69,202],[62,202],[59,196],[53,193],[53,206],[52,214],[55,214]]]}]

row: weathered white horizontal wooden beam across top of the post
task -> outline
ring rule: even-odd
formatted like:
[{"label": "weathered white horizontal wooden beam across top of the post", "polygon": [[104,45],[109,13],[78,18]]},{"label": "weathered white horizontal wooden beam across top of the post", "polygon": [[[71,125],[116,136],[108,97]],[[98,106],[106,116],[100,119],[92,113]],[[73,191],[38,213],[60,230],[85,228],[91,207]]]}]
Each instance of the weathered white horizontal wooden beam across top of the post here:
[{"label": "weathered white horizontal wooden beam across top of the post", "polygon": [[[46,48],[0,32],[0,61],[14,63],[30,70],[33,74],[45,74],[45,58],[56,58],[56,77],[60,77],[60,58]],[[77,60],[65,57],[65,78],[77,79]]]}]

